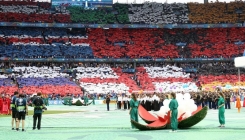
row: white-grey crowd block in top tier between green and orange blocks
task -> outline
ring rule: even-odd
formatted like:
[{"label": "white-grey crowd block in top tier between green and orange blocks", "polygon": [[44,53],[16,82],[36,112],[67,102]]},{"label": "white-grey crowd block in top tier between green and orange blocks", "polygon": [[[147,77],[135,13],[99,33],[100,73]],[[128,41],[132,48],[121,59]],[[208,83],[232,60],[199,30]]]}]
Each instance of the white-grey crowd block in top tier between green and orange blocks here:
[{"label": "white-grey crowd block in top tier between green and orange blocks", "polygon": [[175,24],[187,23],[189,20],[186,4],[146,2],[129,6],[128,16],[131,23]]}]

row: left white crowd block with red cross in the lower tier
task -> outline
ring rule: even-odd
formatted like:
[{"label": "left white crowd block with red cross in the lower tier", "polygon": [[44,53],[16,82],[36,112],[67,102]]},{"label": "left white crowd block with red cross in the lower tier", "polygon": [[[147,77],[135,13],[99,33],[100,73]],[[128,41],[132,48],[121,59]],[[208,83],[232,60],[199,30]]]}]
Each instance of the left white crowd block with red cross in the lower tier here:
[{"label": "left white crowd block with red cross in the lower tier", "polygon": [[91,73],[84,72],[82,76],[77,74],[78,78],[81,77],[81,87],[89,93],[107,93],[112,91],[125,93],[129,90],[140,90],[135,81],[131,79],[133,75],[123,73],[120,68],[88,68],[88,70],[91,69],[93,69]]}]

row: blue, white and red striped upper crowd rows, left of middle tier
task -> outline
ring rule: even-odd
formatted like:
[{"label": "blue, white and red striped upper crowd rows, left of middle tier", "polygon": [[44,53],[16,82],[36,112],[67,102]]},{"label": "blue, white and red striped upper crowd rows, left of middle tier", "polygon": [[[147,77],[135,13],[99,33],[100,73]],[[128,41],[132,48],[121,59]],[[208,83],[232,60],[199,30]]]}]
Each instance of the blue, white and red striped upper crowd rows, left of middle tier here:
[{"label": "blue, white and red striped upper crowd rows, left of middle tier", "polygon": [[46,43],[71,43],[87,44],[86,30],[65,28],[0,28],[0,42],[13,44],[22,42],[25,44],[36,42],[37,44]]}]

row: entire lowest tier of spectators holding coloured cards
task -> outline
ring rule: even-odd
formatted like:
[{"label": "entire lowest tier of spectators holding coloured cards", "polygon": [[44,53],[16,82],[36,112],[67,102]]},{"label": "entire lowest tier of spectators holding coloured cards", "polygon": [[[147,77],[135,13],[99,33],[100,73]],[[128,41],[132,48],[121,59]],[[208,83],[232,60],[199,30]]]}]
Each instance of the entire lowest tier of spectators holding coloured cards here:
[{"label": "entire lowest tier of spectators holding coloured cards", "polygon": [[[46,65],[46,66],[45,66]],[[33,94],[106,94],[132,92],[197,91],[200,88],[235,90],[245,88],[245,70],[241,69],[241,83],[232,62],[213,63],[157,63],[139,64],[135,73],[126,73],[122,64],[1,64],[12,69],[10,74],[2,71],[0,92],[9,95],[16,90]],[[197,71],[187,73],[182,67],[192,66]],[[220,70],[230,67],[230,70]],[[70,71],[67,71],[70,69]],[[80,87],[79,87],[80,86]],[[82,87],[82,88],[81,88]]]}]

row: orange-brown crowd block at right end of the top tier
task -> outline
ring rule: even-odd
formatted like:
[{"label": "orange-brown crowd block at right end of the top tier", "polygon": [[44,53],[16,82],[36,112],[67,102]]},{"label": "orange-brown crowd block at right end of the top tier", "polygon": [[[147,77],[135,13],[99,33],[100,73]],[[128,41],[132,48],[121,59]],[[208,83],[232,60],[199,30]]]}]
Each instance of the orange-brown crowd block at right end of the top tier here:
[{"label": "orange-brown crowd block at right end of the top tier", "polygon": [[[191,23],[237,23],[244,21],[244,2],[188,3]],[[208,12],[207,12],[208,11]]]}]

